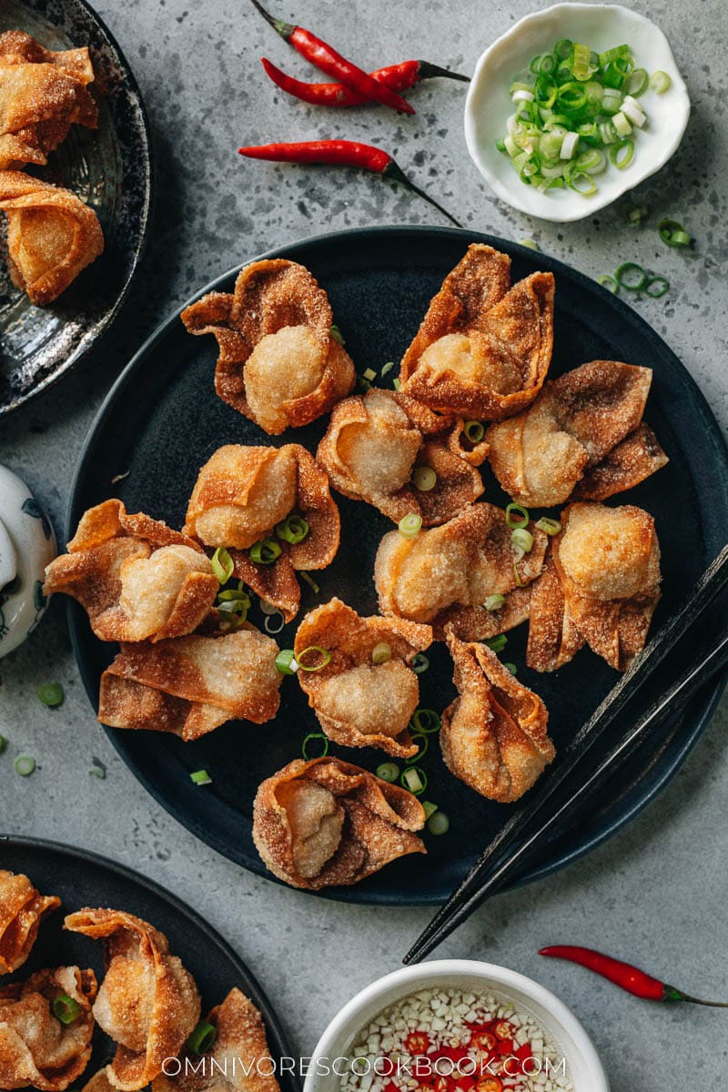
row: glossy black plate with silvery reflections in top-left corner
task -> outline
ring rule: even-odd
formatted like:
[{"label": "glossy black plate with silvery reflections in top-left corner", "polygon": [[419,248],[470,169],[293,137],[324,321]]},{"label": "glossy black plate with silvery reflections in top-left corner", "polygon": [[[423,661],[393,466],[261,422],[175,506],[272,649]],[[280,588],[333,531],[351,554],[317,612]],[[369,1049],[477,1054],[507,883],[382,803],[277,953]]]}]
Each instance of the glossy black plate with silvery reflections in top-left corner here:
[{"label": "glossy black plate with silvery reflections in top-left corner", "polygon": [[142,251],[152,183],[136,81],[84,0],[3,0],[0,32],[9,29],[26,31],[47,49],[87,45],[91,50],[98,129],[72,126],[47,166],[33,173],[87,201],[100,221],[105,249],[48,307],[34,307],[0,259],[0,414],[69,371],[111,323]]}]

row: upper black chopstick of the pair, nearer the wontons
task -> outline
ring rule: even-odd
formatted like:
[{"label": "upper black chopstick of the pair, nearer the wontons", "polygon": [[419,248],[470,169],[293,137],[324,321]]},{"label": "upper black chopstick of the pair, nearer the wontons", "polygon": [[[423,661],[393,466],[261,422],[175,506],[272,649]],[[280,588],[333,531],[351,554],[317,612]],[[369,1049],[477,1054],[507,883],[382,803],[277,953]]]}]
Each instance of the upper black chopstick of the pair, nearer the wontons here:
[{"label": "upper black chopstick of the pair, nearer the wontons", "polygon": [[[480,894],[487,874],[498,857],[511,859],[514,847],[526,829],[542,820],[552,798],[571,776],[574,767],[596,744],[597,739],[613,723],[624,705],[636,695],[652,676],[655,668],[684,637],[685,632],[705,610],[713,598],[728,582],[728,546],[725,546],[713,563],[705,570],[691,595],[666,622],[644,652],[637,656],[632,667],[607,695],[594,714],[580,728],[566,748],[560,764],[533,796],[528,804],[502,827],[484,851],[463,882],[438,911],[430,924],[418,937],[404,958],[405,963],[417,962],[440,943],[467,915],[485,899],[490,888]],[[717,668],[715,668],[717,669]],[[651,724],[655,721],[651,721]],[[494,888],[492,888],[494,890]]]}]

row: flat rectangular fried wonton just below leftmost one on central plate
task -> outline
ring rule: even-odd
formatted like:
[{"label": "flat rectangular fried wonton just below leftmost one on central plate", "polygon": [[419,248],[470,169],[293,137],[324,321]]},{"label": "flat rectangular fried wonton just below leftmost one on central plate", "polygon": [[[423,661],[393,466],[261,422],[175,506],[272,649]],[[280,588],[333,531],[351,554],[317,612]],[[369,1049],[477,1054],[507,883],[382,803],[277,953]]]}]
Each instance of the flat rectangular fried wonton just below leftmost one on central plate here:
[{"label": "flat rectangular fried wonton just below leftmost one on central plate", "polygon": [[252,627],[223,637],[122,642],[102,675],[98,720],[184,740],[226,721],[263,724],[278,711],[277,654],[275,641]]}]

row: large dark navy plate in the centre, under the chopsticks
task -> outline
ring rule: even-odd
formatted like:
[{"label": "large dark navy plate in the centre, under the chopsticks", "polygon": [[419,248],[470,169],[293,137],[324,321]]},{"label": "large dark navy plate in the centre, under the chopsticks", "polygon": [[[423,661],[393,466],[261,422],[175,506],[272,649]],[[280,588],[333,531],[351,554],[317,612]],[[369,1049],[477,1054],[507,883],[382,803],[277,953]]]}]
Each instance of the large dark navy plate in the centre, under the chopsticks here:
[{"label": "large dark navy plate in the centre, under the chopsticks", "polygon": [[[656,429],[669,465],[625,499],[657,520],[664,555],[665,595],[655,625],[676,607],[706,563],[723,546],[728,522],[728,462],[716,423],[685,369],[664,342],[630,308],[593,281],[544,254],[452,228],[373,228],[344,232],[275,251],[267,257],[300,261],[327,289],[335,321],[360,371],[398,360],[416,332],[443,276],[468,242],[481,239],[513,258],[513,277],[536,269],[557,277],[557,312],[551,373],[586,360],[614,358],[649,365],[655,371],[647,419]],[[232,289],[235,272],[214,285]],[[191,337],[177,316],[146,343],[117,382],[94,424],[81,460],[69,509],[69,533],[82,512],[110,496],[130,511],[139,509],[181,526],[198,470],[223,443],[285,443],[313,449],[326,420],[271,440],[255,425],[216,397],[213,388],[216,343]],[[390,373],[391,376],[392,373]],[[118,485],[111,477],[126,474]],[[485,472],[486,498],[506,498]],[[365,503],[336,495],[342,513],[342,546],[334,563],[317,577],[321,594],[303,586],[303,610],[338,595],[362,614],[377,612],[372,562],[392,524]],[[253,618],[261,621],[253,612]],[[71,604],[71,630],[88,696],[96,704],[98,679],[115,648],[92,634],[85,614]],[[554,675],[523,667],[525,627],[509,634],[504,658],[518,664],[518,677],[534,687],[550,710],[550,732],[562,747],[616,681],[616,674],[588,651]],[[293,644],[295,625],[278,638]],[[452,664],[442,645],[432,649],[422,676],[421,702],[443,709],[453,698]],[[692,703],[682,721],[666,727],[665,739],[640,755],[609,786],[587,820],[570,830],[540,862],[556,868],[584,853],[620,827],[665,784],[705,726],[717,691]],[[199,838],[247,868],[267,875],[251,841],[251,805],[259,783],[300,755],[301,740],[318,725],[295,678],[284,680],[278,717],[263,727],[227,724],[193,745],[155,733],[109,729],[110,737],[148,791]],[[375,769],[379,752],[336,748],[348,761]],[[429,855],[407,857],[365,883],[327,892],[357,902],[441,901],[463,877],[474,856],[511,814],[482,799],[450,775],[437,738],[422,761],[427,797],[450,816],[450,833],[427,835]],[[190,771],[205,768],[213,784],[195,787]],[[535,873],[532,871],[532,876]]]}]

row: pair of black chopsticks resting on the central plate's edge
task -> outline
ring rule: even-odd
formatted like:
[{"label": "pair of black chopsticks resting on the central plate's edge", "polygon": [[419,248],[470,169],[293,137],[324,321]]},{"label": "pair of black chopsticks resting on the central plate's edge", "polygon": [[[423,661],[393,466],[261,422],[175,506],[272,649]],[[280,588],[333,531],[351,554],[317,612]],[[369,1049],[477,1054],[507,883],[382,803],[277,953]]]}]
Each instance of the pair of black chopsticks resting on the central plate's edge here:
[{"label": "pair of black chopsticks resting on the central plate's edge", "polygon": [[[610,728],[628,702],[653,676],[715,596],[728,583],[728,546],[705,570],[681,609],[663,627],[630,669],[576,733],[559,765],[505,826],[473,866],[461,886],[434,915],[405,956],[404,963],[423,959],[457,928],[488,895],[499,891],[534,852],[542,847],[559,823],[597,792],[626,758],[660,726],[664,714],[687,701],[708,678],[728,664],[728,634],[700,657],[643,713],[630,731],[611,746],[587,774],[578,768],[597,740]],[[568,782],[570,784],[568,784]],[[565,795],[562,790],[565,790]]]}]

